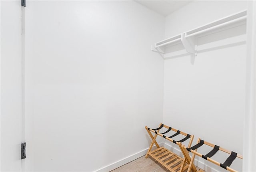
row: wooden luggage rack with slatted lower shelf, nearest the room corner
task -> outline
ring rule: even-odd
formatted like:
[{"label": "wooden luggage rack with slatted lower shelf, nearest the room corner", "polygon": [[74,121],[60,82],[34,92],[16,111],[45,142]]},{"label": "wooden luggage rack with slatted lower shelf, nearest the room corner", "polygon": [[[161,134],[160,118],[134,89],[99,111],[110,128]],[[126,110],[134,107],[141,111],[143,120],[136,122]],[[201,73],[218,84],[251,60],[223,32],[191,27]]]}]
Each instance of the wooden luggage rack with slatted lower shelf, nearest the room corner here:
[{"label": "wooden luggage rack with slatted lower shelf, nearest the room corner", "polygon": [[[194,135],[190,135],[190,134],[187,134],[180,130],[173,129],[172,127],[169,127],[162,123],[160,123],[160,125],[157,129],[150,129],[147,126],[145,128],[148,131],[148,134],[150,135],[150,137],[152,138],[152,142],[151,142],[148,152],[146,154],[146,158],[148,158],[148,155],[151,156],[152,158],[154,158],[156,161],[158,161],[160,164],[162,164],[164,167],[166,167],[171,172],[183,172],[184,170],[186,170],[188,168],[192,168],[193,170],[196,170],[194,164],[190,163],[191,161],[188,161],[186,158],[181,158],[177,154],[174,154],[173,152],[171,152],[170,150],[168,150],[164,147],[160,147],[158,145],[158,143],[156,142],[156,137],[158,135],[169,140],[170,142],[173,142],[174,144],[179,144],[179,143],[182,143],[182,142],[190,139],[190,141],[188,143],[188,147],[190,147],[192,144]],[[166,128],[167,130],[165,132],[159,133],[159,130],[162,128]],[[169,137],[164,135],[164,134],[170,132],[171,130],[176,133]],[[153,136],[151,132],[155,133],[155,135]],[[177,136],[178,134],[184,135],[185,138],[183,138],[179,141],[173,140],[172,138]],[[157,148],[155,150],[151,151],[154,144],[156,144]]]}]

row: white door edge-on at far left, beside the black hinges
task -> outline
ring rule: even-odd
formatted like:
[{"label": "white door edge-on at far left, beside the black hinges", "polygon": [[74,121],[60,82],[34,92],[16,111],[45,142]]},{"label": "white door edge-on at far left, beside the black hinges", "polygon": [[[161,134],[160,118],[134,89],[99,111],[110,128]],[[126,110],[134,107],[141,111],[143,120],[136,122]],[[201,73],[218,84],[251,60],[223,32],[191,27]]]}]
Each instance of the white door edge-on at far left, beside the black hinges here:
[{"label": "white door edge-on at far left, beside the black hinges", "polygon": [[1,1],[1,171],[21,171],[21,5]]}]

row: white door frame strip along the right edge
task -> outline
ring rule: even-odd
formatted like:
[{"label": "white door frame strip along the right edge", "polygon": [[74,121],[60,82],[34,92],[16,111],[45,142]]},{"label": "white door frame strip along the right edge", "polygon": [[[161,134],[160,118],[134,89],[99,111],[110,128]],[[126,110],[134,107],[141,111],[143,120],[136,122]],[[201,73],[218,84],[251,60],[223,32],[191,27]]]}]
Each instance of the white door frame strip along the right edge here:
[{"label": "white door frame strip along the right edge", "polygon": [[246,105],[243,171],[256,171],[256,1],[247,8]]}]

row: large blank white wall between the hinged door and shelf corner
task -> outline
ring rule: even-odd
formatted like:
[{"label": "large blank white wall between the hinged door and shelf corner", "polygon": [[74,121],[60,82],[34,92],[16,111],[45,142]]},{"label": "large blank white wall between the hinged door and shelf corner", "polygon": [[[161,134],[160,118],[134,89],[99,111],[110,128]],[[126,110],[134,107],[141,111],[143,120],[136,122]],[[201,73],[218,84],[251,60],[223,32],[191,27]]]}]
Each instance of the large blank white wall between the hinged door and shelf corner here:
[{"label": "large blank white wall between the hinged door and shelf corner", "polygon": [[132,1],[28,1],[26,28],[27,170],[94,171],[148,148],[164,17]]}]

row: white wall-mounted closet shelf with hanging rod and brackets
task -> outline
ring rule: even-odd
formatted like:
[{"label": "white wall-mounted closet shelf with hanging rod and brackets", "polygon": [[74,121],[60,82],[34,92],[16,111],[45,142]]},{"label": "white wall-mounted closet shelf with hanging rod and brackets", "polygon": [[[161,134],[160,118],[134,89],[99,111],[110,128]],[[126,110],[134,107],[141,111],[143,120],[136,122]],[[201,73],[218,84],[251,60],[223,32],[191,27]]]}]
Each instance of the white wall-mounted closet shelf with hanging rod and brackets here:
[{"label": "white wall-mounted closet shelf with hanging rod and brackets", "polygon": [[154,52],[163,54],[164,53],[163,49],[165,47],[182,43],[188,53],[196,56],[197,55],[197,45],[196,45],[197,38],[246,24],[246,18],[247,18],[247,10],[242,10],[240,12],[226,16],[224,18],[220,18],[218,20],[215,20],[213,22],[210,22],[198,28],[181,33],[177,36],[173,36],[171,38],[167,38],[165,40],[157,42],[154,45],[152,45],[151,50]]}]

